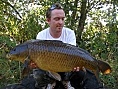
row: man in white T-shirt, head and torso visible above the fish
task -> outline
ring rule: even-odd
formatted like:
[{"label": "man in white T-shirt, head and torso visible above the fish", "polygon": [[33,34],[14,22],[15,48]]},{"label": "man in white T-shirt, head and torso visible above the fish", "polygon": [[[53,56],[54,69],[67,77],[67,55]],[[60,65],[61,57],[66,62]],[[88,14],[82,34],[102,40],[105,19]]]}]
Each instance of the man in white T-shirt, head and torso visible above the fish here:
[{"label": "man in white T-shirt, head and torso visible above the fish", "polygon": [[[36,39],[60,40],[76,46],[76,37],[73,30],[64,27],[65,12],[60,4],[54,4],[46,12],[49,28],[39,32]],[[76,70],[79,70],[77,68]]]}]

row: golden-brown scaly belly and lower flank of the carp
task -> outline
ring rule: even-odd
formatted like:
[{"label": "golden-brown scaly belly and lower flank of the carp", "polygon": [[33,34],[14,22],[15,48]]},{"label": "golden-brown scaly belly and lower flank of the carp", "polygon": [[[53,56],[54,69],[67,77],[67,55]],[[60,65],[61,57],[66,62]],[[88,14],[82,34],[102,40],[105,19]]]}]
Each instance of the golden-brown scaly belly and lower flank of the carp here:
[{"label": "golden-brown scaly belly and lower flank of the carp", "polygon": [[[37,66],[43,70],[54,72],[70,72],[74,67],[88,67],[94,69],[88,61],[74,55],[56,52],[41,52],[32,57]],[[33,60],[32,59],[32,60]]]}]

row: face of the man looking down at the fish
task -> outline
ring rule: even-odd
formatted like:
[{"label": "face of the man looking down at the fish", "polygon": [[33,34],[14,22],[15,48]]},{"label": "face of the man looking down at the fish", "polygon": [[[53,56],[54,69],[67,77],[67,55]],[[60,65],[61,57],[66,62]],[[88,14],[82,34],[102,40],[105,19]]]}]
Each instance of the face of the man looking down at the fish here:
[{"label": "face of the man looking down at the fish", "polygon": [[47,19],[50,30],[53,33],[60,33],[64,26],[65,12],[62,9],[54,9],[51,12],[51,18]]}]

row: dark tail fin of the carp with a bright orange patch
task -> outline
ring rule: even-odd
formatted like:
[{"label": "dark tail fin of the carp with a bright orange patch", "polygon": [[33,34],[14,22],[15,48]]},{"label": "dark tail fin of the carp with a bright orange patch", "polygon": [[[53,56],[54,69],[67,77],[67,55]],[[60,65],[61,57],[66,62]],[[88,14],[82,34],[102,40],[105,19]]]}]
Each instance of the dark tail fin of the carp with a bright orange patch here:
[{"label": "dark tail fin of the carp with a bright orange patch", "polygon": [[111,73],[111,67],[108,63],[101,61],[101,60],[97,60],[97,61],[98,61],[99,69],[103,74]]}]

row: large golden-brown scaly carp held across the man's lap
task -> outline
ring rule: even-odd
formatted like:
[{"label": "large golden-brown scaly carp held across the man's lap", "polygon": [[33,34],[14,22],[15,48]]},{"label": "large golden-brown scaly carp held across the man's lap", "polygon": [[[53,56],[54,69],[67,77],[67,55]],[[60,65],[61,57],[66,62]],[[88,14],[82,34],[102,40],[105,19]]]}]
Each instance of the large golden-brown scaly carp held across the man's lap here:
[{"label": "large golden-brown scaly carp held across the man's lap", "polygon": [[106,62],[96,60],[88,51],[57,40],[29,40],[17,45],[7,54],[7,58],[24,61],[28,58],[43,70],[70,72],[75,67],[109,74],[111,67]]}]

